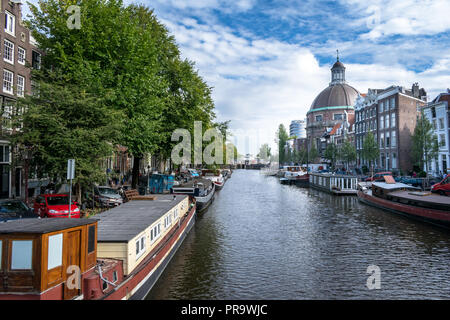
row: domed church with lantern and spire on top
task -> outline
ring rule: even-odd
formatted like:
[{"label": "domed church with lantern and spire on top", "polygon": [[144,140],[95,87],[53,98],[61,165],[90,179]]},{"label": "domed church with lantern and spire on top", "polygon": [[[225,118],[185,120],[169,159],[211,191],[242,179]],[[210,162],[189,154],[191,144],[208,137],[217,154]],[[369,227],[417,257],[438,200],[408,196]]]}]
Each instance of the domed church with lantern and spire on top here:
[{"label": "domed church with lantern and spire on top", "polygon": [[307,117],[307,139],[309,148],[314,146],[320,154],[326,148],[326,141],[323,136],[329,133],[333,127],[347,120],[354,123],[354,105],[359,92],[345,81],[345,66],[337,61],[331,68],[331,82],[314,99]]}]

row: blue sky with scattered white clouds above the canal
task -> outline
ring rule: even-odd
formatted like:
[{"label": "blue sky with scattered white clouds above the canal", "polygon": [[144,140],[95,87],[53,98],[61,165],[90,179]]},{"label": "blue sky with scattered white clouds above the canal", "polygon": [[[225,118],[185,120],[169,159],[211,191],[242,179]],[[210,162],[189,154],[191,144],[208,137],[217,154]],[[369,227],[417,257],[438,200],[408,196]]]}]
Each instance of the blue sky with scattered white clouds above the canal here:
[{"label": "blue sky with scattered white clouds above the canal", "polygon": [[153,8],[195,62],[241,154],[274,150],[279,124],[306,117],[336,50],[361,93],[418,82],[430,101],[450,88],[450,0],[131,2]]}]

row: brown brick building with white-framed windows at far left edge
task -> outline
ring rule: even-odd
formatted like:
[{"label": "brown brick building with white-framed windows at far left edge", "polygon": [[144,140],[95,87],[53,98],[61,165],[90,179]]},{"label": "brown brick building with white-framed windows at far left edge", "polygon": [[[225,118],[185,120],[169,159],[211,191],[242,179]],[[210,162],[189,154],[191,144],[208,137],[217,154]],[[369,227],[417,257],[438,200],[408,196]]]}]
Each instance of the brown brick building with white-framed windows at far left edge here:
[{"label": "brown brick building with white-framed windows at far left edge", "polygon": [[0,133],[0,198],[23,197],[23,168],[12,164],[8,136],[10,116],[18,97],[31,92],[31,68],[39,68],[41,54],[23,22],[20,0],[0,1],[0,74],[2,85],[0,104],[2,112]]}]

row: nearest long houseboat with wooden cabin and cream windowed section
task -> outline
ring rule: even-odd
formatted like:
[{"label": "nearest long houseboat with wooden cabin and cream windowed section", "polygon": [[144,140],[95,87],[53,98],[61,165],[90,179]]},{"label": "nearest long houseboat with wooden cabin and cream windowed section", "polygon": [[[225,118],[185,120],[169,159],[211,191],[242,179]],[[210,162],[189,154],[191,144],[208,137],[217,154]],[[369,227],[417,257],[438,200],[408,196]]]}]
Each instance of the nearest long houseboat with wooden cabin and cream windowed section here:
[{"label": "nearest long houseboat with wooden cabin and cream windowed section", "polygon": [[195,223],[185,195],[0,224],[0,299],[144,299]]}]

